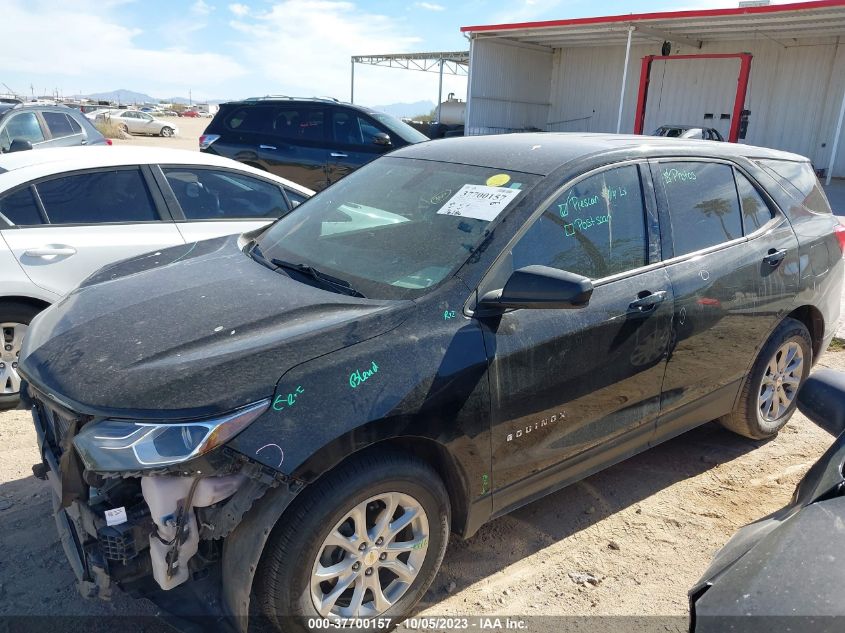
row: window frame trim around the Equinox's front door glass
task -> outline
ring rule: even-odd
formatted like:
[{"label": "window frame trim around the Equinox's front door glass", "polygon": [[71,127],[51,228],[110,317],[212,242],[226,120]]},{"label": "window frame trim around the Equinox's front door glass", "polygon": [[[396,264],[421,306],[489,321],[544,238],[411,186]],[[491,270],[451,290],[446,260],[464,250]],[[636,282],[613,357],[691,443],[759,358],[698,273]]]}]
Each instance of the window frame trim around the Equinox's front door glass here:
[{"label": "window frame trim around the Equinox's front door glass", "polygon": [[[513,237],[508,241],[505,247],[502,249],[501,254],[496,258],[496,260],[490,264],[487,270],[484,272],[484,275],[481,277],[481,281],[478,283],[476,290],[474,290],[471,295],[467,298],[466,302],[464,303],[464,313],[467,315],[472,315],[473,310],[475,309],[475,302],[477,301],[478,296],[480,296],[483,292],[487,290],[491,290],[492,288],[487,288],[486,286],[489,284],[490,279],[494,279],[498,273],[499,268],[504,265],[510,258],[508,254],[513,250],[513,247],[523,238],[523,236],[529,231],[529,229],[534,226],[534,223],[540,219],[540,217],[545,213],[548,208],[554,204],[554,202],[560,198],[561,195],[568,189],[571,189],[575,185],[577,185],[582,180],[586,180],[592,176],[600,174],[603,171],[609,171],[611,169],[617,169],[619,167],[628,167],[628,166],[635,166],[638,168],[639,178],[640,178],[640,186],[643,188],[645,195],[644,199],[644,206],[646,217],[643,218],[643,222],[645,223],[645,230],[646,230],[646,239],[651,240],[651,229],[649,224],[651,222],[647,221],[652,219],[652,210],[649,209],[649,201],[648,192],[645,191],[646,188],[646,180],[644,179],[643,175],[644,172],[647,170],[647,163],[648,160],[645,158],[635,158],[630,160],[623,160],[616,163],[609,163],[607,165],[601,165],[599,167],[595,167],[589,171],[583,172],[573,178],[570,178],[566,182],[564,182],[560,187],[557,187],[551,194],[549,194],[539,205],[537,208],[531,213],[525,223],[520,227],[520,229],[514,234]],[[652,201],[653,202],[653,201]],[[648,244],[650,250],[650,242]],[[617,281],[619,279],[625,279],[627,277],[633,277],[634,275],[639,275],[641,273],[647,272],[649,270],[654,270],[657,268],[661,268],[664,265],[662,260],[652,262],[651,261],[651,254],[647,253],[649,262],[643,266],[638,266],[637,268],[632,268],[631,270],[626,270],[621,273],[615,273],[613,275],[608,275],[607,277],[601,277],[598,279],[594,279],[593,287],[601,286],[606,283],[610,283],[612,281]]]}]

